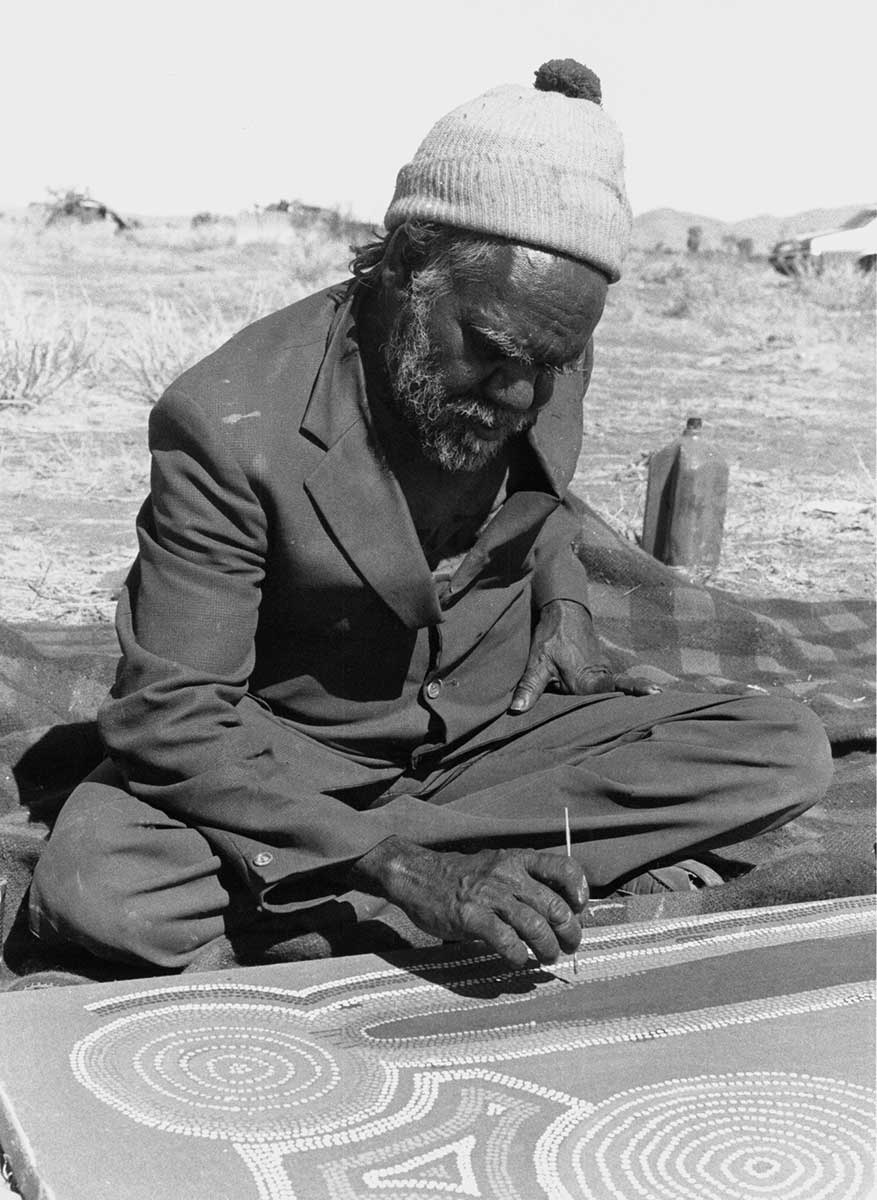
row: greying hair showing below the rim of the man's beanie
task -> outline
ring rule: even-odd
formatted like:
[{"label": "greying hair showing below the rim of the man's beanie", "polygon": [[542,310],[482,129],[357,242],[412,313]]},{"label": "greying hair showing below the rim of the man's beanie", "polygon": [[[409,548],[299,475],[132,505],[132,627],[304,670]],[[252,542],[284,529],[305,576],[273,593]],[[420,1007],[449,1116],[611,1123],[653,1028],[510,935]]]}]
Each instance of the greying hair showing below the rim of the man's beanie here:
[{"label": "greying hair showing below the rim of the man's beanie", "polygon": [[[401,228],[407,235],[403,263],[409,275],[427,272],[437,281],[441,277],[447,288],[456,280],[480,278],[497,251],[511,246],[504,238],[428,221],[406,221]],[[354,246],[350,271],[361,283],[377,286],[391,238],[392,233],[388,233],[365,246]]]}]

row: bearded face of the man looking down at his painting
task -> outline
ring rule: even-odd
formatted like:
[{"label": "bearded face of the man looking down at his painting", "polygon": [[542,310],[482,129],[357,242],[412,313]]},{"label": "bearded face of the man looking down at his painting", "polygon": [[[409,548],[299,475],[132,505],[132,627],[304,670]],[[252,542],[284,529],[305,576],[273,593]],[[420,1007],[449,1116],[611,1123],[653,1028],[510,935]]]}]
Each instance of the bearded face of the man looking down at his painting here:
[{"label": "bearded face of the man looking down at his painting", "polygon": [[477,282],[415,272],[392,314],[388,372],[427,458],[476,470],[534,424],[554,378],[575,370],[607,282],[584,263],[497,247]]}]

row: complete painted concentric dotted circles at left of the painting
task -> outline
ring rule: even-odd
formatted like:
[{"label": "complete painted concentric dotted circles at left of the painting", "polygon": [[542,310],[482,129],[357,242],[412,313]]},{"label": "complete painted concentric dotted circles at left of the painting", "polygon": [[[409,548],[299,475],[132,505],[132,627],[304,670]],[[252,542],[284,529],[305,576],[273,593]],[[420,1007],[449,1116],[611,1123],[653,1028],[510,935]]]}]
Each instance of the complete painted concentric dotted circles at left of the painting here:
[{"label": "complete painted concentric dotted circles at left of the painting", "polygon": [[71,1066],[140,1124],[236,1142],[313,1128],[324,1105],[344,1108],[360,1075],[348,1052],[302,1037],[284,1006],[234,1001],[127,1014],[78,1042]]}]

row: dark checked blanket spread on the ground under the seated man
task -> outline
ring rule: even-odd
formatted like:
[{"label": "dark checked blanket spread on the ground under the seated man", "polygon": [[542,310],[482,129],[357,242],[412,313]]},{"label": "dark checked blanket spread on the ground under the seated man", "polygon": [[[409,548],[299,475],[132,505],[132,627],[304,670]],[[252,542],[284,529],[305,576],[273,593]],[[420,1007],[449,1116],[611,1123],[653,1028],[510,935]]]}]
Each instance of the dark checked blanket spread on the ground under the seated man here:
[{"label": "dark checked blanket spread on the ground under the seated man", "polygon": [[[875,605],[744,599],[689,582],[585,509],[577,552],[617,670],[665,688],[792,696],[825,724],[836,775],[825,799],[734,847],[761,863],[798,847],[873,846]],[[94,716],[112,683],[108,625],[0,623],[0,877],[6,928],[64,798],[102,757]]]}]

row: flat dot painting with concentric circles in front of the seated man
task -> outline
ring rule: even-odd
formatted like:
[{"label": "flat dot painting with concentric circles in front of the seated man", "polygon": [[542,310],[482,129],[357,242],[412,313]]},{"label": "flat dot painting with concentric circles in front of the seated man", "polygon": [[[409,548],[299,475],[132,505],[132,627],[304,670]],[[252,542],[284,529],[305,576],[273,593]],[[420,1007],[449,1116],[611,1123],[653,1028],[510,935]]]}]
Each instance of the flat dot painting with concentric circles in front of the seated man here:
[{"label": "flat dot painting with concentric circles in front of the seated man", "polygon": [[865,1200],[873,904],[0,997],[28,1200]]}]

